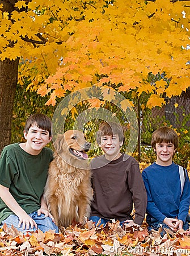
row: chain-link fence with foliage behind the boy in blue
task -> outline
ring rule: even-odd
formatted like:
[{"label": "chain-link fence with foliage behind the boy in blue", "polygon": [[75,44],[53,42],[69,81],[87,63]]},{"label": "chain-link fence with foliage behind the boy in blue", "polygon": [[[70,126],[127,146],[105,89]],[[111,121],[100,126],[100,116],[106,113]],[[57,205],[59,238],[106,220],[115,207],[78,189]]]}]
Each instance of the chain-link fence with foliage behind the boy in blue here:
[{"label": "chain-link fence with foliage behind the boy in blue", "polygon": [[[140,102],[147,102],[148,98],[149,95],[144,94]],[[154,161],[155,154],[150,146],[151,135],[159,127],[168,126],[179,135],[179,147],[174,155],[174,162],[187,167],[190,161],[190,88],[181,96],[167,99],[162,108],[141,108],[139,112],[136,106],[136,113],[140,113],[141,124],[137,159],[142,162]]]}]

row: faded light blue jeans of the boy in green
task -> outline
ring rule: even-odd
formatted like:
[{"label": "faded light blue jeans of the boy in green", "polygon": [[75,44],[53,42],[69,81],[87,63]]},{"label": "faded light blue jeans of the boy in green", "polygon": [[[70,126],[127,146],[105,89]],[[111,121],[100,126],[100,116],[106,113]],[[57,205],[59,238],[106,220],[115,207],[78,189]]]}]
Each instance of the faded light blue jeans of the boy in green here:
[{"label": "faded light blue jeans of the boy in green", "polygon": [[[28,215],[36,222],[37,229],[40,229],[42,232],[46,232],[51,229],[51,230],[55,230],[55,232],[58,233],[58,227],[56,226],[56,224],[54,224],[54,222],[50,217],[45,217],[44,214],[41,214],[40,216],[38,216],[37,212],[29,213]],[[21,225],[21,227],[19,228],[18,226],[19,218],[13,214],[2,221],[1,223],[2,225],[0,225],[0,228],[2,228],[4,223],[6,223],[6,225],[9,228],[11,228],[11,225],[13,225],[16,229],[18,229],[23,233],[36,231],[35,227],[33,227],[33,229],[31,227],[29,227],[29,229],[23,229]]]}]

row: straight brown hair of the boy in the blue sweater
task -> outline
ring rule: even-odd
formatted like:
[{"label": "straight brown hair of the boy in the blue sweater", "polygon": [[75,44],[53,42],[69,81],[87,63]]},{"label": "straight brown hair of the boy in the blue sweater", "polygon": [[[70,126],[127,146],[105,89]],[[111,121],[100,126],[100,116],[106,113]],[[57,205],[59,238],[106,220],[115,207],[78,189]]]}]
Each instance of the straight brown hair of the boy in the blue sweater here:
[{"label": "straight brown hair of the boy in the blue sweater", "polygon": [[174,149],[178,147],[178,134],[171,128],[162,126],[154,131],[151,146],[155,149],[156,143],[172,143]]}]

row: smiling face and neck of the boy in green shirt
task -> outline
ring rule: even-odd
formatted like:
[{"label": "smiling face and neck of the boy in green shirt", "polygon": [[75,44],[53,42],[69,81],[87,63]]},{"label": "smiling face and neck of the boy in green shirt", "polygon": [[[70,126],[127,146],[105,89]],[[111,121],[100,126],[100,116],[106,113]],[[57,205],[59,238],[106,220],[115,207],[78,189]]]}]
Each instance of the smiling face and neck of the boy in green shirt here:
[{"label": "smiling face and neck of the boy in green shirt", "polygon": [[25,150],[31,155],[40,154],[43,147],[45,147],[50,141],[49,132],[40,129],[36,125],[29,128],[28,133],[24,131],[24,138],[27,139]]}]

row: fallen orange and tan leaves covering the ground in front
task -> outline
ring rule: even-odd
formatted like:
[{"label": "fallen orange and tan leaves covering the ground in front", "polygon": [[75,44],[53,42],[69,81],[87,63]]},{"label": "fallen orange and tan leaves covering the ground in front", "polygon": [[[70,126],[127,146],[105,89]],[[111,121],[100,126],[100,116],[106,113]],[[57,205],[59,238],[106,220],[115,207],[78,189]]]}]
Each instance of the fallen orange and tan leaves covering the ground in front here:
[{"label": "fallen orange and tan leaves covering the ground in front", "polygon": [[0,256],[2,255],[190,255],[190,231],[173,233],[162,228],[147,232],[146,223],[140,228],[119,221],[97,227],[92,221],[85,226],[73,225],[60,233],[53,230],[23,234],[12,226],[0,229]]}]

